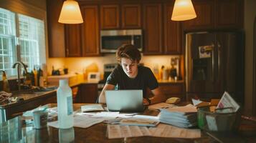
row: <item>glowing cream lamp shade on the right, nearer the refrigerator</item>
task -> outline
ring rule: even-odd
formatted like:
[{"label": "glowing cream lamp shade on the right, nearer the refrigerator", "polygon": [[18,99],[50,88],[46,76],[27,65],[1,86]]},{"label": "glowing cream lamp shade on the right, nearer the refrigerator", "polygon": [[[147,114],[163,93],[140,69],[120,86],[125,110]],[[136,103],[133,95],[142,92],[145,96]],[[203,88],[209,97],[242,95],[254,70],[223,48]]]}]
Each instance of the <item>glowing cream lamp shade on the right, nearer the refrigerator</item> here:
[{"label": "glowing cream lamp shade on the right, nearer the refrigerator", "polygon": [[196,12],[191,0],[176,0],[171,15],[173,21],[184,21],[196,18]]}]

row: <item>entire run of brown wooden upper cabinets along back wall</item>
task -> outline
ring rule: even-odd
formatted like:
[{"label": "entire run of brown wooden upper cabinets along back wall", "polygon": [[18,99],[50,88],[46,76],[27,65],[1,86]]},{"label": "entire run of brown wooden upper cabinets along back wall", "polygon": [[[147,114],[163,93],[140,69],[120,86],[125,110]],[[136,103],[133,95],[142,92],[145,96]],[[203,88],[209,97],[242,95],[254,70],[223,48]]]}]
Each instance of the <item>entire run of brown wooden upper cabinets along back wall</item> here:
[{"label": "entire run of brown wooden upper cabinets along back wall", "polygon": [[49,57],[100,56],[100,29],[143,29],[143,54],[182,54],[187,31],[242,29],[243,0],[193,0],[196,19],[171,21],[170,1],[79,1],[84,23],[60,24],[47,0]]}]

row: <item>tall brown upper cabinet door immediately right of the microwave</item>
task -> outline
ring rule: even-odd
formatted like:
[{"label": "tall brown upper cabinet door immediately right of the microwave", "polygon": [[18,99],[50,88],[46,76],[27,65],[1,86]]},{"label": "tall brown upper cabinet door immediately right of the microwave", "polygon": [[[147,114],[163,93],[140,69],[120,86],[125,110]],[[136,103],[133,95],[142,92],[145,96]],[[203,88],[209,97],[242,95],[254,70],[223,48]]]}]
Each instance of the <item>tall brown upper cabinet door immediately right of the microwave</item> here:
[{"label": "tall brown upper cabinet door immediately right of the microwave", "polygon": [[162,54],[161,4],[143,4],[143,54]]}]

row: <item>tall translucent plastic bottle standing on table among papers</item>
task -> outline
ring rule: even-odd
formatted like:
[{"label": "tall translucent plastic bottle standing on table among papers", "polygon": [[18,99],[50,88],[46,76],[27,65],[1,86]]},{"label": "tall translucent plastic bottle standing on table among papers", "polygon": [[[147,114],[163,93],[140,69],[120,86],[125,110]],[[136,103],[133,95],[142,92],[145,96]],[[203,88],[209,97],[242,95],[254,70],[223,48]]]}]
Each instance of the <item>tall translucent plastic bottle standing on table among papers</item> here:
[{"label": "tall translucent plastic bottle standing on table among papers", "polygon": [[72,90],[68,86],[67,79],[61,79],[60,86],[57,89],[57,112],[60,129],[73,127]]}]

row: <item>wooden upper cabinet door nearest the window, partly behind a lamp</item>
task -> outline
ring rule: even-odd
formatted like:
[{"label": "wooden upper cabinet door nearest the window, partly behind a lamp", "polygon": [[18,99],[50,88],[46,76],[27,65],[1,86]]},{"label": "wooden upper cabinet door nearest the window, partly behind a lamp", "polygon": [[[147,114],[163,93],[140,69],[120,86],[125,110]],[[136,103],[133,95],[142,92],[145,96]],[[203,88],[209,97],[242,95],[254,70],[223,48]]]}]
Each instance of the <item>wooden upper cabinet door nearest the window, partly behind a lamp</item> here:
[{"label": "wooden upper cabinet door nearest the window, partly behind a lamp", "polygon": [[64,24],[58,22],[62,0],[47,0],[47,29],[49,42],[49,57],[65,57]]}]

